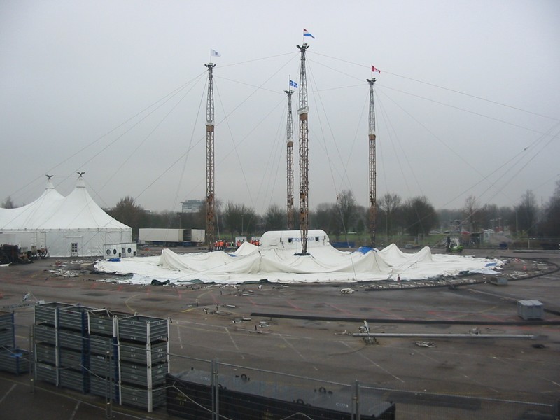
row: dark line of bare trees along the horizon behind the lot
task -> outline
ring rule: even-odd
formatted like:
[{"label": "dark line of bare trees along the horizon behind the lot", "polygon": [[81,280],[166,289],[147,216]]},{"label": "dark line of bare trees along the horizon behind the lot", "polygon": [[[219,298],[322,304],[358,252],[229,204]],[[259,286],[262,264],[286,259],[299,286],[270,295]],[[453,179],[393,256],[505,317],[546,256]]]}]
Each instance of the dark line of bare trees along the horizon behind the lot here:
[{"label": "dark line of bare trees along the horizon behind the lot", "polygon": [[[133,237],[139,228],[206,228],[204,206],[195,213],[146,211],[132,197],[124,197],[107,213],[132,227]],[[271,204],[264,214],[246,204],[216,201],[216,234],[225,240],[237,235],[259,236],[267,230],[286,230],[286,208]],[[297,209],[292,226],[299,229]],[[349,190],[337,195],[335,203],[321,203],[309,211],[309,229],[321,229],[335,240],[348,239],[349,232],[369,233],[369,209],[356,203]],[[517,205],[498,207],[480,204],[476,197],[465,200],[461,209],[435,210],[427,197],[403,200],[396,193],[386,193],[377,200],[376,236],[390,241],[396,235],[430,235],[461,228],[470,232],[486,229],[507,230],[514,235],[560,237],[560,181],[547,204],[538,205],[535,194],[527,190]]]}]

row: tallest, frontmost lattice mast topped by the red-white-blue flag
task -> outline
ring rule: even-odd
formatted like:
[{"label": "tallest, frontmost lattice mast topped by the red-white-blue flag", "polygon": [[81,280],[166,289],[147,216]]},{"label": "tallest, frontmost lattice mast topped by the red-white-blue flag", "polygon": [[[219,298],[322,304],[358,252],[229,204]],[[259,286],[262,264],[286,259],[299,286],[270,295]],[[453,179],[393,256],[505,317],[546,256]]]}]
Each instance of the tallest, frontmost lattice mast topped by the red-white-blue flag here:
[{"label": "tallest, frontmost lattice mast topped by the red-white-blue flag", "polygon": [[302,235],[302,255],[307,255],[307,231],[309,230],[309,127],[307,127],[307,76],[305,74],[305,50],[309,48],[304,43],[300,49],[300,107],[297,113],[300,116],[300,230]]}]

